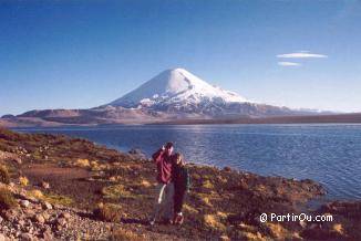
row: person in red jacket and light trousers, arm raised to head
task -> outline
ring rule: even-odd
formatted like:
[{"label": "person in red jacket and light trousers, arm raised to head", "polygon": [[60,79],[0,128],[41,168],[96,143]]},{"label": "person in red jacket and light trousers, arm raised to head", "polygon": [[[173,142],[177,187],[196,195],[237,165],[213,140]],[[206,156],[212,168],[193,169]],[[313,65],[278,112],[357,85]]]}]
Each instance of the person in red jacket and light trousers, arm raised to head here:
[{"label": "person in red jacket and light trousers, arm raised to head", "polygon": [[157,166],[157,199],[154,207],[154,212],[151,217],[149,224],[154,226],[156,219],[163,214],[167,222],[172,222],[173,218],[173,168],[175,156],[173,153],[173,143],[165,144],[161,149],[153,154],[153,160]]}]

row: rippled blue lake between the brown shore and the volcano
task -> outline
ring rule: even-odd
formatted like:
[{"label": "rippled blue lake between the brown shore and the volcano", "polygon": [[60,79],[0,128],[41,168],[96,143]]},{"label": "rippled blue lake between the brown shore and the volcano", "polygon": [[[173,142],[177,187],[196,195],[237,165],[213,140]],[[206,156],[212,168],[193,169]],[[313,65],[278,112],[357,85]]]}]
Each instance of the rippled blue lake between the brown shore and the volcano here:
[{"label": "rippled blue lake between the brown shore and the volcano", "polygon": [[361,125],[116,125],[17,128],[65,134],[151,156],[165,142],[196,164],[229,166],[265,176],[309,178],[326,199],[361,198]]}]

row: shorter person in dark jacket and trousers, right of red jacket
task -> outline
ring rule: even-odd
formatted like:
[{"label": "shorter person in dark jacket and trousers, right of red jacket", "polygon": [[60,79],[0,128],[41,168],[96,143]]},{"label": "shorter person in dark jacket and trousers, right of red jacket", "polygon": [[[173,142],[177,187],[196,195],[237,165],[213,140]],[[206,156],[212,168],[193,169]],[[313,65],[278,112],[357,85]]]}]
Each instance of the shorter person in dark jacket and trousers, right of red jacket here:
[{"label": "shorter person in dark jacket and trousers, right of red jacket", "polygon": [[183,159],[182,154],[175,154],[175,167],[174,167],[174,224],[182,224],[183,217],[183,203],[186,196],[186,192],[189,192],[190,187],[190,178],[189,171],[185,166],[185,161]]}]

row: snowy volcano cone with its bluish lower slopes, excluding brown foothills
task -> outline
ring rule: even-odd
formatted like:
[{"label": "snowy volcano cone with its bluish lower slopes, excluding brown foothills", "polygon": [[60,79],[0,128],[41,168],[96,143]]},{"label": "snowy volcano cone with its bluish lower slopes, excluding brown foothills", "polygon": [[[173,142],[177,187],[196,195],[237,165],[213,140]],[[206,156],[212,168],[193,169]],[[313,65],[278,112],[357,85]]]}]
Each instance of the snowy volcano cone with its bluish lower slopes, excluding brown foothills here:
[{"label": "snowy volcano cone with its bluish lower slopes, excluding brown foothills", "polygon": [[166,113],[176,118],[288,115],[291,109],[256,104],[184,69],[167,70],[105,106]]}]

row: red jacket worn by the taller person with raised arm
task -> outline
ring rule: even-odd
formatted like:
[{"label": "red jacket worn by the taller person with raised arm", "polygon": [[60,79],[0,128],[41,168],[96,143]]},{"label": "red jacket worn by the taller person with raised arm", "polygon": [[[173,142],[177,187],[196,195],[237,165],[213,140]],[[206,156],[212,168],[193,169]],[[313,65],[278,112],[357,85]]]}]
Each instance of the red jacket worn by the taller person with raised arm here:
[{"label": "red jacket worn by the taller person with raised arm", "polygon": [[157,165],[157,181],[169,184],[172,181],[174,156],[168,156],[165,150],[159,149],[152,157]]}]

